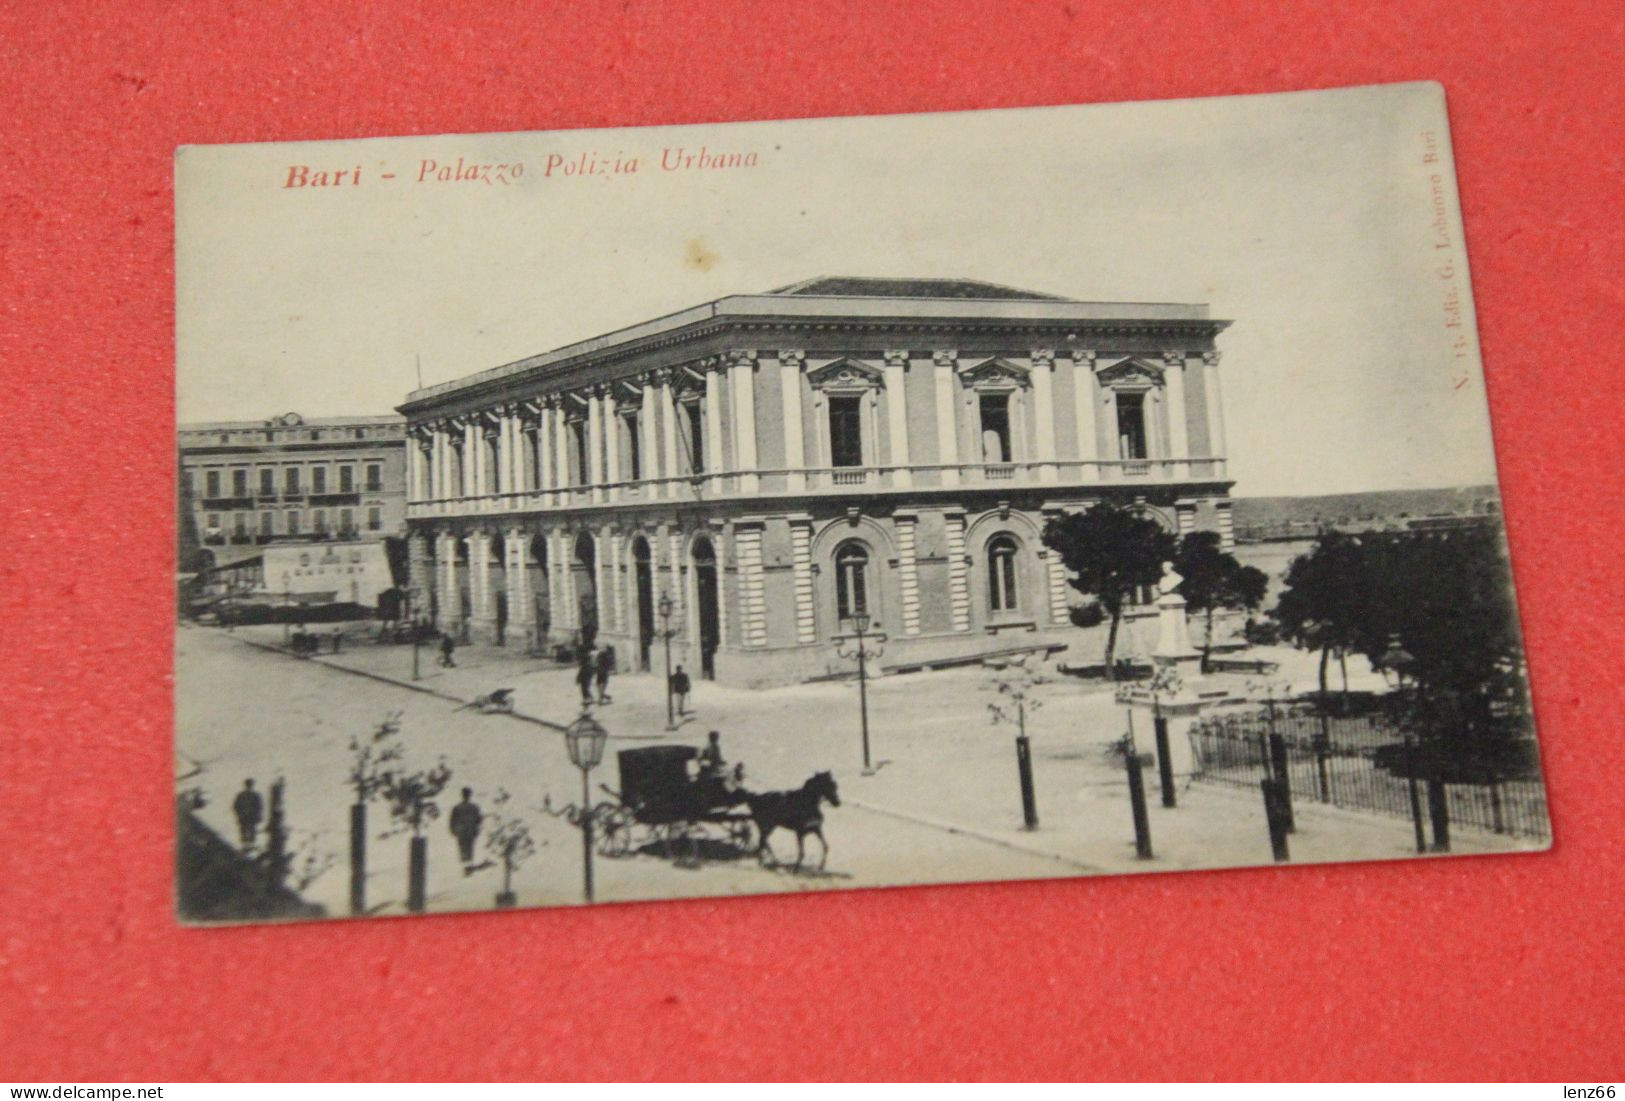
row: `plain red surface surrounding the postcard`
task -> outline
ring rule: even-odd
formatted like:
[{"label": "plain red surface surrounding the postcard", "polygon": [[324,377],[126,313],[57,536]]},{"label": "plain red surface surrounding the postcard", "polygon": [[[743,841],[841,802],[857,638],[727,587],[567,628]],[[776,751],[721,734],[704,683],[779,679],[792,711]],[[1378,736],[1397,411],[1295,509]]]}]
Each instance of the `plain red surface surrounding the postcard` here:
[{"label": "plain red surface surrounding the postcard", "polygon": [[[887,6],[5,5],[0,1078],[1620,1078],[1620,8]],[[1450,96],[1550,854],[174,924],[176,145],[1399,80]]]}]

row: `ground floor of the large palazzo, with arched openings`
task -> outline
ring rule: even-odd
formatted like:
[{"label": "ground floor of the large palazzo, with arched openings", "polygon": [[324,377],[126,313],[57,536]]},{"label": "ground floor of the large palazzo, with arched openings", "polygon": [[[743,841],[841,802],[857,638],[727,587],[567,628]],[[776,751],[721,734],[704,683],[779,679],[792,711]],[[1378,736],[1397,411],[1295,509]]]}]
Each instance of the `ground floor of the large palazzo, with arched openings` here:
[{"label": "ground floor of the large palazzo, with arched openings", "polygon": [[[611,645],[621,669],[772,685],[843,676],[856,615],[882,669],[1076,638],[1042,542],[1100,495],[720,500],[413,521],[414,606],[465,640]],[[1170,531],[1228,533],[1222,495],[1126,497]]]}]

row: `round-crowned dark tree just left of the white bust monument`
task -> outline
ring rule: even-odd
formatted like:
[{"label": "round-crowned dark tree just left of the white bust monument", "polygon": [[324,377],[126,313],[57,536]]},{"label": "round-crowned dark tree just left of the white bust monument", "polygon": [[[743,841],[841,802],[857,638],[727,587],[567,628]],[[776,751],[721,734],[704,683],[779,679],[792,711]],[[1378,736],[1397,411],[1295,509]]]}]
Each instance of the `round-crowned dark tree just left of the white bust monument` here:
[{"label": "round-crowned dark tree just left of the white bust monument", "polygon": [[1053,518],[1043,528],[1043,546],[1061,555],[1072,573],[1072,588],[1094,596],[1112,620],[1105,661],[1107,676],[1115,680],[1123,606],[1138,588],[1162,576],[1162,563],[1173,559],[1173,536],[1149,516],[1102,502],[1089,512]]}]

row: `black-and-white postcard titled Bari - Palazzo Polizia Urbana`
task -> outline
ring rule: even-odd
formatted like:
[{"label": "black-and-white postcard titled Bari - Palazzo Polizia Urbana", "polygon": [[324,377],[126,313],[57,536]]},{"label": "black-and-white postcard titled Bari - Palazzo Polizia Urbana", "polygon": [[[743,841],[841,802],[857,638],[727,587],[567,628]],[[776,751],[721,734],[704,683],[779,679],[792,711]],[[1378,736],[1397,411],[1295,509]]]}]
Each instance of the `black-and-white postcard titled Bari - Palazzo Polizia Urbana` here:
[{"label": "black-and-white postcard titled Bari - Palazzo Polizia Urbana", "polygon": [[1550,844],[1436,84],[176,205],[182,921]]}]

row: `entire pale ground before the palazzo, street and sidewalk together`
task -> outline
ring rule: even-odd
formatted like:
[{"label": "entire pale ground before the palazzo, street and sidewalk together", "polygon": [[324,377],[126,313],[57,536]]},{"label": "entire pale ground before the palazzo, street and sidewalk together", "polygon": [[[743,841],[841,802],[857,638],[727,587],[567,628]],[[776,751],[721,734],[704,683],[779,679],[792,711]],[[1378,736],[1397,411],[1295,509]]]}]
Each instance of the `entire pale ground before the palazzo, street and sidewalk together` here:
[{"label": "entire pale ground before the palazzo, street and sidewalk together", "polygon": [[[453,779],[442,810],[470,786],[488,810],[499,788],[514,796],[533,828],[538,851],[518,870],[520,905],[580,901],[580,833],[541,810],[580,797],[580,775],[569,765],[559,729],[580,710],[572,669],[515,658],[494,648],[462,648],[458,667],[440,669],[422,648],[421,680],[411,680],[411,648],[382,646],[359,635],[340,654],[296,659],[281,653],[280,627],[184,627],[179,633],[177,788],[202,788],[203,817],[234,836],[229,802],[242,778],[262,789],[288,781],[294,848],[333,866],[304,890],[330,914],[348,909],[346,788],[351,734],[400,713],[408,763],[440,757]],[[1284,677],[1313,677],[1313,656],[1280,654]],[[658,663],[658,653],[656,653]],[[1368,679],[1368,671],[1352,680]],[[515,692],[517,715],[478,715],[463,703],[492,689]],[[696,715],[665,731],[665,685],[656,676],[618,676],[613,702],[595,706],[609,729],[604,766],[595,786],[618,783],[614,752],[661,740],[700,744],[720,729],[730,762],[746,765],[752,791],[798,788],[830,770],[842,805],[827,809],[827,870],[791,874],[754,857],[687,867],[658,856],[598,859],[600,901],[881,887],[988,879],[1037,879],[1084,872],[1138,872],[1232,867],[1269,862],[1259,799],[1212,784],[1185,789],[1176,809],[1157,805],[1150,825],[1157,859],[1134,859],[1133,825],[1121,766],[1107,745],[1123,731],[1123,711],[1098,685],[1055,677],[1037,690],[1042,706],[1029,718],[1040,828],[1020,828],[1012,736],[994,728],[986,705],[990,674],[980,667],[894,676],[869,684],[874,775],[861,775],[858,689],[852,682],[736,690],[699,684]],[[462,710],[460,710],[462,708]],[[369,905],[403,913],[405,833],[382,836],[390,823],[382,804],[370,809]],[[1410,823],[1320,807],[1300,801],[1292,836],[1297,862],[1406,856]],[[427,830],[429,908],[483,909],[500,890],[494,867],[465,877],[445,820]],[[780,833],[780,854],[795,840]],[[1492,835],[1459,831],[1458,853],[1519,848]],[[809,841],[812,857],[817,843]]]}]

